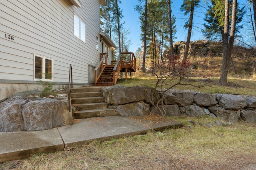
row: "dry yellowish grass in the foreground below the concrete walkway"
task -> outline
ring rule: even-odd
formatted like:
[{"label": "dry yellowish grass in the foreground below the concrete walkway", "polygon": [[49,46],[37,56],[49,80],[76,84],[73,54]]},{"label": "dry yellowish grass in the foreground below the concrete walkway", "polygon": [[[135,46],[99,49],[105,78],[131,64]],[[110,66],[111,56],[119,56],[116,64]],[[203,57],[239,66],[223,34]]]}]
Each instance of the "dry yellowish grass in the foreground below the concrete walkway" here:
[{"label": "dry yellowish grass in the foreground below the concrete walkway", "polygon": [[[214,124],[209,117],[173,117],[184,123],[166,129],[99,143],[81,149],[34,155],[6,162],[0,170],[170,170],[256,168],[256,125],[239,122],[209,128],[189,122]],[[188,125],[192,126],[189,127]]]}]

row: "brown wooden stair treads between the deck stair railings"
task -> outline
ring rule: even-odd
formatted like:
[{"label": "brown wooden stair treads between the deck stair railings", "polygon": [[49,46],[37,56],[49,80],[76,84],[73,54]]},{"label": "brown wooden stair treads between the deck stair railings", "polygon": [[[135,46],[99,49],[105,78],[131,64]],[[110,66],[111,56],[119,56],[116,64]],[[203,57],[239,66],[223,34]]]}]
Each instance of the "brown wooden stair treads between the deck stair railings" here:
[{"label": "brown wooden stair treads between the deck stair railings", "polygon": [[96,86],[112,86],[114,85],[114,73],[113,73],[114,66],[108,65],[104,68]]}]

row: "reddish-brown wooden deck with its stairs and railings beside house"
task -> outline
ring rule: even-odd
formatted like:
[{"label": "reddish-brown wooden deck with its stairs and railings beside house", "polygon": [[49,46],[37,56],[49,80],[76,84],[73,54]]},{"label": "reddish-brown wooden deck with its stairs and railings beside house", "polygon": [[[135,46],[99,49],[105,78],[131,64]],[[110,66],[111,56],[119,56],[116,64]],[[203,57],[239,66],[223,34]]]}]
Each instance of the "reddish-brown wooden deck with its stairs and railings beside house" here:
[{"label": "reddish-brown wooden deck with its stairs and railings beside house", "polygon": [[[100,64],[95,68],[95,85],[111,86],[115,85],[120,72],[136,72],[136,58],[134,53],[121,53],[117,61],[112,61],[107,65],[106,53],[100,54]],[[132,78],[132,74],[131,78]]]}]

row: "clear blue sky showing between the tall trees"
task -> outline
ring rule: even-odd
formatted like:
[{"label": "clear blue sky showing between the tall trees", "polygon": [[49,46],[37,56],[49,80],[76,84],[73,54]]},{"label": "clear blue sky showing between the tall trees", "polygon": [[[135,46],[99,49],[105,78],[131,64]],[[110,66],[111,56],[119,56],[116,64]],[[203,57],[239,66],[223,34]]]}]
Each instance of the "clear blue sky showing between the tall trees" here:
[{"label": "clear blue sky showing between the tall trees", "polygon": [[[244,4],[246,0],[238,0],[240,4]],[[135,53],[138,47],[141,47],[140,41],[140,23],[139,23],[139,15],[138,12],[135,11],[135,5],[138,4],[138,0],[121,0],[122,4],[120,4],[120,8],[122,9],[122,14],[124,17],[122,21],[125,22],[124,28],[127,30],[130,28],[129,37],[132,39],[132,45],[130,46],[130,52]],[[189,16],[184,16],[183,12],[180,11],[180,6],[182,4],[182,0],[174,0],[172,3],[172,14],[176,16],[176,28],[177,33],[174,41],[186,41],[187,30],[183,28],[184,23],[188,20]],[[143,4],[144,5],[144,4]],[[206,5],[204,5],[206,7]],[[204,28],[202,25],[204,23],[204,7],[197,8],[194,13],[194,25],[192,30],[191,41],[196,41],[198,39],[203,39],[203,35],[201,33],[201,28]]]}]

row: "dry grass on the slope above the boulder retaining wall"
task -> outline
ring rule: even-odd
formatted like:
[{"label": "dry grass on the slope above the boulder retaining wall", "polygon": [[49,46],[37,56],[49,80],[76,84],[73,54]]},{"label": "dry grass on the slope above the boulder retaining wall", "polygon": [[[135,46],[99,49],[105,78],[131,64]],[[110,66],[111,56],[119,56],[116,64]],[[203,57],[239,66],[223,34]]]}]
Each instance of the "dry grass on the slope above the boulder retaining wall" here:
[{"label": "dry grass on the slope above the boulder retaining wall", "polygon": [[[230,67],[228,73],[228,86],[220,86],[218,80],[220,79],[221,63],[222,57],[200,57],[190,59],[193,63],[193,67],[196,69],[191,69],[190,78],[184,79],[183,83],[193,84],[195,86],[200,86],[205,84],[205,79],[210,78],[210,83],[202,88],[197,88],[193,86],[175,86],[174,89],[177,90],[195,90],[206,93],[226,93],[226,94],[243,94],[256,96],[256,72],[253,70],[249,64],[251,60],[245,59],[241,62],[241,58],[233,58],[234,64],[238,74],[234,74]],[[128,78],[127,81],[124,79],[118,80],[118,85],[123,86],[148,86],[154,87],[157,78],[150,73],[136,72],[132,75],[132,79]],[[178,78],[174,79],[171,84],[176,84]],[[168,86],[166,86],[168,88]]]}]

